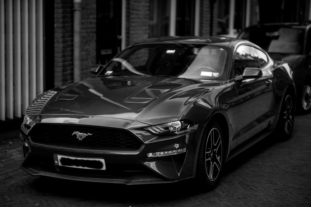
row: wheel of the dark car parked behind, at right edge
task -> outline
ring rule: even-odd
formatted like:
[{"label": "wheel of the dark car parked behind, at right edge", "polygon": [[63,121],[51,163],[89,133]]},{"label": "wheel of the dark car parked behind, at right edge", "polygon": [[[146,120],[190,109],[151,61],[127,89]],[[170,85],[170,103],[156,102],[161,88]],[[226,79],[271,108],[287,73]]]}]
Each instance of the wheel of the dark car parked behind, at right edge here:
[{"label": "wheel of the dark car parked behind, at right edge", "polygon": [[300,114],[309,114],[311,112],[311,83],[305,83],[298,91],[297,110]]}]

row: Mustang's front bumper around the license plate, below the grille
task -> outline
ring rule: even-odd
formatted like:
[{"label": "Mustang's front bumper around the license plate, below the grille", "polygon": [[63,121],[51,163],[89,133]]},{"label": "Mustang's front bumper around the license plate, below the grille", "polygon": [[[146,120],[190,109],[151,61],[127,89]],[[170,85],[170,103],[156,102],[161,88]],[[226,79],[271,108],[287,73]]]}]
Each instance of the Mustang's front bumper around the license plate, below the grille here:
[{"label": "Mustang's front bumper around the license plate, below the grille", "polygon": [[[200,130],[183,135],[166,135],[170,137],[156,142],[143,143],[138,151],[92,151],[44,146],[31,143],[29,137],[21,132],[20,136],[24,141],[24,161],[21,169],[34,176],[127,185],[181,181],[194,178],[198,131]],[[176,146],[187,150],[178,155],[147,157],[150,152],[174,150]],[[54,164],[54,155],[101,158],[105,160],[106,169],[58,166]]]}]

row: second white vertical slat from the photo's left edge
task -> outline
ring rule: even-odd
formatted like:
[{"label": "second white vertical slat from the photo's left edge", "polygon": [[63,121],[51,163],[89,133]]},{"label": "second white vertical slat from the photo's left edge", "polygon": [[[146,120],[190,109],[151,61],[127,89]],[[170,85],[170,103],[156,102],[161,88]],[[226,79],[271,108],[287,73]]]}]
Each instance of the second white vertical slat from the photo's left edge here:
[{"label": "second white vertical slat from the photo's left edge", "polygon": [[7,118],[13,119],[13,2],[6,0],[5,2],[5,18],[6,18],[6,104]]}]

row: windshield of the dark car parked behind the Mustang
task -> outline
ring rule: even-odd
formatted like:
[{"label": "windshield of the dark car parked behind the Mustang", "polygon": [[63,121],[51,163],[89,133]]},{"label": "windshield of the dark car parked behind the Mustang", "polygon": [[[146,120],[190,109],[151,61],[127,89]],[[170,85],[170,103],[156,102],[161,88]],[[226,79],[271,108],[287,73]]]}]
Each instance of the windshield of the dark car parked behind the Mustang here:
[{"label": "windshield of the dark car parked behind the Mustang", "polygon": [[304,29],[292,27],[262,27],[246,30],[240,39],[249,40],[269,53],[299,55],[303,53]]}]

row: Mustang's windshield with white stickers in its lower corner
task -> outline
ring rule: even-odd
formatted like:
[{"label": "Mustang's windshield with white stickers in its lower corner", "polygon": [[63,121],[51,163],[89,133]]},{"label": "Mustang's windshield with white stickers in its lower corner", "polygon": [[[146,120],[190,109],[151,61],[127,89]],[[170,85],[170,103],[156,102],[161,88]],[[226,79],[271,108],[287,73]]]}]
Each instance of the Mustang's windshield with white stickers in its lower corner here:
[{"label": "Mustang's windshield with white stickers in its lower corner", "polygon": [[225,80],[229,48],[157,43],[134,45],[121,52],[100,72],[105,75],[173,76]]}]

